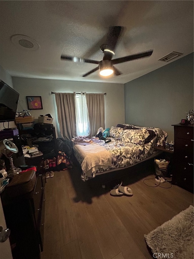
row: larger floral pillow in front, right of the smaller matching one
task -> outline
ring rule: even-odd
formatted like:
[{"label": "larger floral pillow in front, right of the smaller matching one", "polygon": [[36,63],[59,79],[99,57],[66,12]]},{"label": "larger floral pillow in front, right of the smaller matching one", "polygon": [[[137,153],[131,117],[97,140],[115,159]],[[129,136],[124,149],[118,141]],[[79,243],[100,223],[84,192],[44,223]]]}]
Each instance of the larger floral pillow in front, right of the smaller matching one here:
[{"label": "larger floral pillow in front, right of the smaller matching one", "polygon": [[145,140],[148,136],[149,132],[146,128],[129,129],[121,132],[119,140],[139,145],[139,149],[143,150]]}]

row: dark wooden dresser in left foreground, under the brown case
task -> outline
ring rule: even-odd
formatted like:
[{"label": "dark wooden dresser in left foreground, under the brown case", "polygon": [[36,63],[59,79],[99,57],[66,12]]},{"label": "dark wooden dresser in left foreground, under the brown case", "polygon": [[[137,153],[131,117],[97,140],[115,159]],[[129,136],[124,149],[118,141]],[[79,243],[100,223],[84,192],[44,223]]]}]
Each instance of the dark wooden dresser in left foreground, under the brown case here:
[{"label": "dark wooden dresser in left foreground, under the brown case", "polygon": [[40,259],[43,251],[45,176],[39,171],[36,177],[29,193],[11,198],[5,188],[1,194],[13,259]]}]

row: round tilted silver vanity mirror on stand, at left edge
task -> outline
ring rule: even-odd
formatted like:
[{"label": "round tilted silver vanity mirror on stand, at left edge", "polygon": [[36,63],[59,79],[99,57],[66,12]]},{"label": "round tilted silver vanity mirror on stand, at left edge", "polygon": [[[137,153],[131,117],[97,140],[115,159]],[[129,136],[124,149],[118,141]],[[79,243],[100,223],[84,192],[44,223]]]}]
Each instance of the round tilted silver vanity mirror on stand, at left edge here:
[{"label": "round tilted silver vanity mirror on stand, at left edge", "polygon": [[8,176],[15,176],[22,171],[21,169],[16,168],[13,164],[12,155],[18,153],[18,148],[12,141],[8,139],[3,139],[2,141],[0,141],[0,153],[5,155],[6,158],[9,159],[11,168],[7,172]]}]

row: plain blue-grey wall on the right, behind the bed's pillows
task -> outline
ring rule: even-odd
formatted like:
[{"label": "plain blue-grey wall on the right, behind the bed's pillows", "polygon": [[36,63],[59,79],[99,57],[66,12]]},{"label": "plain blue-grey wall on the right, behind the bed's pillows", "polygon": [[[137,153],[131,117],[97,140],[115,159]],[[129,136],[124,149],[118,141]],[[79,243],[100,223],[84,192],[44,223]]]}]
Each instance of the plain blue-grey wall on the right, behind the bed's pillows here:
[{"label": "plain blue-grey wall on the right, behind the bed's pillows", "polygon": [[125,123],[161,128],[173,140],[171,124],[193,109],[193,53],[125,83],[124,93]]}]

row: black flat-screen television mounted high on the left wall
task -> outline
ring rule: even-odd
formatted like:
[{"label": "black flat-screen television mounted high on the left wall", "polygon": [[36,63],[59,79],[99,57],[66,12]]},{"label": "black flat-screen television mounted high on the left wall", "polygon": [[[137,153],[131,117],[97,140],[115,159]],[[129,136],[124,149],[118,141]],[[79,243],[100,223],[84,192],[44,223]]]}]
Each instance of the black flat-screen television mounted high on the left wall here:
[{"label": "black flat-screen television mounted high on the left wall", "polygon": [[19,94],[0,79],[0,122],[14,121]]}]

